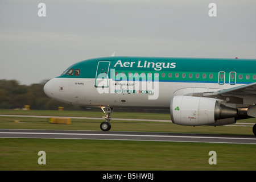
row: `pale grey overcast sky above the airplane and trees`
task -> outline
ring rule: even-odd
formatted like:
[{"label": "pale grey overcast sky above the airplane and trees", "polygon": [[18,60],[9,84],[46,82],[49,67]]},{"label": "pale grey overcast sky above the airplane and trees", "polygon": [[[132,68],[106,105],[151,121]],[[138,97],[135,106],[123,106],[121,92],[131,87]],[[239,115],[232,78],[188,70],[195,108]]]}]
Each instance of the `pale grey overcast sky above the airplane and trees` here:
[{"label": "pale grey overcast sky above the airplane and trees", "polygon": [[[39,17],[39,3],[46,17]],[[210,17],[209,3],[217,16]],[[94,57],[256,59],[255,0],[0,0],[0,80],[30,85]]]}]

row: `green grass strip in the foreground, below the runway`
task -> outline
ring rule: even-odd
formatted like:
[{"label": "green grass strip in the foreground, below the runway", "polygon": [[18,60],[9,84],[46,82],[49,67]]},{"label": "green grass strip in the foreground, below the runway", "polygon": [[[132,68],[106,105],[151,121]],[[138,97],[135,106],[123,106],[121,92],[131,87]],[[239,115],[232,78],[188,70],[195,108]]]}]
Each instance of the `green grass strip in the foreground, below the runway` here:
[{"label": "green grass strip in the foreground, below the runway", "polygon": [[[255,170],[249,144],[1,138],[0,170]],[[210,165],[209,151],[216,151]],[[46,152],[46,165],[38,152]]]}]

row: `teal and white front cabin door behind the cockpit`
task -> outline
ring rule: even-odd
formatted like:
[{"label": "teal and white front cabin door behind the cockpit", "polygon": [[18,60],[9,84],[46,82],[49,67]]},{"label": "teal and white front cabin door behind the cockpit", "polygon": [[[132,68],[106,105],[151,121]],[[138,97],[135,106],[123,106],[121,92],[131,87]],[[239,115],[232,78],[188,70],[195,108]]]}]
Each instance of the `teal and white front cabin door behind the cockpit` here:
[{"label": "teal and white front cabin door behind the cockpit", "polygon": [[110,61],[98,61],[96,70],[95,86],[108,87],[109,86],[109,65]]}]

